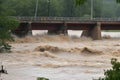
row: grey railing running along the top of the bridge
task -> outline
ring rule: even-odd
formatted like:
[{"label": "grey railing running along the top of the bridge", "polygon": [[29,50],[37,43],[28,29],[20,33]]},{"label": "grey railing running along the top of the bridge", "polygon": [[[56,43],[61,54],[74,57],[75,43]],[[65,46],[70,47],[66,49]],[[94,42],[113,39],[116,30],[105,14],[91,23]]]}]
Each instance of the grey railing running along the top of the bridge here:
[{"label": "grey railing running along the top of the bridge", "polygon": [[120,21],[120,18],[16,17],[20,21]]}]

